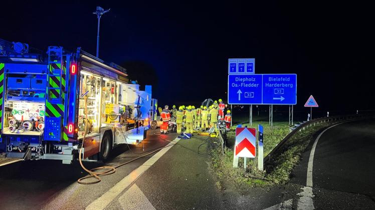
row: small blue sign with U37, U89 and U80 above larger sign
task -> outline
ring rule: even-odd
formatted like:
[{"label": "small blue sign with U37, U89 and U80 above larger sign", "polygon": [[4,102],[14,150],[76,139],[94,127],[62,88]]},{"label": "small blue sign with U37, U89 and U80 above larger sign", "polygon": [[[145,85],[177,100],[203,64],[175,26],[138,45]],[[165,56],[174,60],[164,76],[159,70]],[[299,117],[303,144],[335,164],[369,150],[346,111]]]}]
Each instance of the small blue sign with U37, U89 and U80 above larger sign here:
[{"label": "small blue sign with U37, U89 and U80 above larger sign", "polygon": [[230,58],[228,59],[228,74],[255,73],[255,58]]}]

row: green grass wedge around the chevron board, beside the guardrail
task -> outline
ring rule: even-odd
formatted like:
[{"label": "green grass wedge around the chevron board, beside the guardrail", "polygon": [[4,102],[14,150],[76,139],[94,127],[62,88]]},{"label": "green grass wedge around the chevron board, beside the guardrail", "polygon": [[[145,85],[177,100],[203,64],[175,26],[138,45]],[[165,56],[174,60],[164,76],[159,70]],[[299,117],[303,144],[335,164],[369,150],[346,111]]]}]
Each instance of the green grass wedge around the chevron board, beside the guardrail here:
[{"label": "green grass wedge around the chevron board, beside the guardrail", "polygon": [[[257,121],[250,125],[244,123],[242,126],[254,127],[258,131],[258,124],[262,124],[264,128],[264,157],[267,156],[272,149],[289,133],[288,122],[274,122],[273,126],[268,121]],[[266,187],[276,184],[285,184],[290,177],[294,166],[299,162],[303,151],[313,138],[313,133],[325,127],[328,123],[322,123],[314,127],[301,130],[292,136],[288,142],[284,144],[284,149],[273,155],[269,162],[265,165],[266,171],[257,169],[258,159],[248,158],[247,169],[244,169],[244,158],[240,157],[238,168],[233,167],[235,129],[231,127],[231,131],[227,132],[227,147],[225,155],[221,153],[220,147],[212,147],[212,167],[218,176],[217,186],[224,189],[226,186],[235,184],[237,188],[245,189],[248,187]],[[257,139],[258,146],[258,139]],[[257,147],[258,155],[258,147]]]}]

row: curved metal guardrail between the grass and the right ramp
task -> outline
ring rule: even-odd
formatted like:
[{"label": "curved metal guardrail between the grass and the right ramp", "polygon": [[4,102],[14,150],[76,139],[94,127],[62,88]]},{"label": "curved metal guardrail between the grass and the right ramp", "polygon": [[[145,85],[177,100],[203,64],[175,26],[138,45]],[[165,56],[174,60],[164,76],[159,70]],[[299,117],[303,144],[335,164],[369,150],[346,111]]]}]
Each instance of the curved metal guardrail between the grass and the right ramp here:
[{"label": "curved metal guardrail between the grass and the right ramp", "polygon": [[297,123],[297,124],[294,124],[294,127],[292,129],[292,131],[287,135],[285,136],[281,141],[280,143],[278,143],[276,145],[275,148],[272,149],[272,151],[264,158],[264,163],[267,163],[270,158],[273,156],[273,154],[275,154],[277,151],[279,151],[281,148],[284,147],[285,143],[294,135],[296,134],[298,131],[301,131],[301,130],[304,130],[308,127],[311,127],[311,126],[315,126],[319,123],[324,123],[324,122],[330,122],[330,121],[339,121],[339,120],[353,120],[353,119],[365,119],[365,118],[371,118],[371,117],[374,117],[373,115],[360,115],[360,114],[355,114],[355,115],[352,115],[352,114],[348,114],[348,115],[339,115],[339,116],[331,116],[331,117],[322,117],[322,118],[316,118],[316,119],[312,119],[310,121],[304,121],[302,123]]}]

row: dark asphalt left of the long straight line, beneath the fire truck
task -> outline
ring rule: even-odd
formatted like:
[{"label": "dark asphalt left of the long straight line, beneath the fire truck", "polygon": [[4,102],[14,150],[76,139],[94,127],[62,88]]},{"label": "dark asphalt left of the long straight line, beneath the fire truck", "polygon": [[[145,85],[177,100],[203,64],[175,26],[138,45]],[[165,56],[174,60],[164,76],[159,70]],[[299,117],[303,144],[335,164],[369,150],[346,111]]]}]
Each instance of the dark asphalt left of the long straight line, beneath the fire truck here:
[{"label": "dark asphalt left of the long straight line, beneath the fire truck", "polygon": [[[130,145],[131,150],[121,145],[113,150],[112,159],[105,164],[84,164],[87,168],[115,166],[169,143],[159,135],[153,135],[158,131],[156,129],[147,133],[144,151],[142,143],[138,146]],[[172,140],[175,137],[176,133],[171,133],[165,138]],[[101,182],[91,185],[77,183],[78,178],[87,174],[78,162],[62,164],[61,160],[30,160],[2,166],[0,209],[83,209],[152,155],[121,166],[114,174],[101,176]]]}]

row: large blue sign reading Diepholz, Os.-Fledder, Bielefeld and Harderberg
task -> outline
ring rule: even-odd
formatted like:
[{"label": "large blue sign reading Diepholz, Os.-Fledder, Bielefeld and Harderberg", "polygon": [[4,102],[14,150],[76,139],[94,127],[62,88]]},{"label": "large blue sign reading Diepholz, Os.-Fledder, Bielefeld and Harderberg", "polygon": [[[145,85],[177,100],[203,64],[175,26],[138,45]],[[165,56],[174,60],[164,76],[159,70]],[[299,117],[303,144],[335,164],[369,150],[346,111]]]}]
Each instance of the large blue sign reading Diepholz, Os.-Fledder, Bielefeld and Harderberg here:
[{"label": "large blue sign reading Diepholz, Os.-Fledder, Bielefeld and Harderberg", "polygon": [[297,74],[230,74],[229,104],[296,104]]}]

